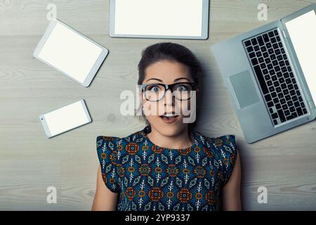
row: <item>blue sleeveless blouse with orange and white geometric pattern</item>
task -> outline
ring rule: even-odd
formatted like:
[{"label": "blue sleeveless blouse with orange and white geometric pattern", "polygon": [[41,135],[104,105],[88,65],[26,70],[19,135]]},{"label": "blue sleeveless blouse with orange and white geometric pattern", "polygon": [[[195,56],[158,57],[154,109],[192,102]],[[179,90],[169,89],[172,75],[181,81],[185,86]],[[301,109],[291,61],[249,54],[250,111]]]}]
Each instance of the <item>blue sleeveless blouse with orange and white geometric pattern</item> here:
[{"label": "blue sleeveless blouse with orange and white geometric pattern", "polygon": [[235,135],[192,130],[190,148],[169,149],[148,139],[150,125],[124,138],[97,137],[105,186],[119,193],[119,211],[220,210],[220,190],[235,165]]}]

